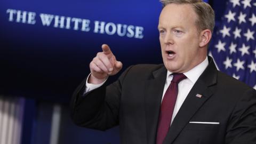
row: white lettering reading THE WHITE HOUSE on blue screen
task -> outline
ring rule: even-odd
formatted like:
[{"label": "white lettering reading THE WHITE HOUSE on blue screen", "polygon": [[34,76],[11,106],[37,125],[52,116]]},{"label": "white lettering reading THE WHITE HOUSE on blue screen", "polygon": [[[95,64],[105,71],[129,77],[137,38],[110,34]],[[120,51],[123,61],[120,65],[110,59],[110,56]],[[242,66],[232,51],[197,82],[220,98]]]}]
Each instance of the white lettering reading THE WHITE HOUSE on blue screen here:
[{"label": "white lettering reading THE WHITE HOUSE on blue screen", "polygon": [[[20,10],[13,10],[7,9],[6,13],[9,14],[9,21],[16,21],[22,23],[28,23],[30,25],[35,25],[36,23],[36,13],[35,12],[28,12],[28,11],[20,11]],[[71,17],[64,17],[60,15],[52,15],[52,14],[39,14],[42,25],[43,26],[53,26],[55,28],[65,28],[70,29],[73,27],[74,30],[81,30],[81,31],[90,31],[90,23],[89,19],[80,19],[80,18],[71,18]],[[54,22],[52,23],[54,19]],[[74,26],[73,26],[74,25]],[[143,35],[143,27],[140,26],[133,26],[133,25],[123,25],[120,23],[108,22],[105,21],[94,21],[94,30],[93,33],[99,34],[107,34],[107,35],[118,35],[120,37],[134,37],[142,39]]]}]

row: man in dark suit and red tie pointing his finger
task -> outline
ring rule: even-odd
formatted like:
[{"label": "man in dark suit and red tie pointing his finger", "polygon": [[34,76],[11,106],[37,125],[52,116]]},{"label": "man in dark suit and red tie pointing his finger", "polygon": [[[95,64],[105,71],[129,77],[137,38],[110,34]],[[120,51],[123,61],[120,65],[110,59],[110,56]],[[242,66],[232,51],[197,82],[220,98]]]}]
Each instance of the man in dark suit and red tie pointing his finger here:
[{"label": "man in dark suit and red tie pointing his finger", "polygon": [[129,144],[256,143],[256,91],[218,71],[207,57],[211,6],[201,0],[161,2],[164,65],[131,66],[106,86],[122,63],[102,45],[73,95],[73,121],[99,130],[119,124],[121,143]]}]

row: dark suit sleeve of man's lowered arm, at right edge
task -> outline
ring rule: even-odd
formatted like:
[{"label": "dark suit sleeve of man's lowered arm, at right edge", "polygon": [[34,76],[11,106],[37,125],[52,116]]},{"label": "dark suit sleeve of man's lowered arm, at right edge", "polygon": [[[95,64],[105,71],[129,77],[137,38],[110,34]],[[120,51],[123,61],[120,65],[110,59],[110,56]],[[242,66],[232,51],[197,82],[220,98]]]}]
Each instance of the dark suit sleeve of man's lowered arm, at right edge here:
[{"label": "dark suit sleeve of man's lowered arm, at right edge", "polygon": [[236,103],[227,127],[228,144],[256,143],[256,91],[247,90]]}]

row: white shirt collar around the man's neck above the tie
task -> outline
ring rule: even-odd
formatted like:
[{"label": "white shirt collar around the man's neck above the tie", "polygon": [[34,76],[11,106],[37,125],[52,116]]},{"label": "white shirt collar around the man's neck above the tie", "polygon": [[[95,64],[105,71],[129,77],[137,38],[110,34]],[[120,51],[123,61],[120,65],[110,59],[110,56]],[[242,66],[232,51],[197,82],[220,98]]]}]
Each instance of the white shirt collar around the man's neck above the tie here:
[{"label": "white shirt collar around the man's neck above the tie", "polygon": [[[189,71],[187,71],[186,73],[183,73],[191,82],[196,83],[197,79],[199,78],[199,76],[203,73],[203,71],[206,69],[206,67],[208,66],[209,61],[208,58],[206,57],[205,60],[203,62],[201,62],[199,65],[197,65],[196,67],[190,69]],[[167,70],[167,76],[166,78],[168,78],[170,75],[172,74],[171,71]]]}]

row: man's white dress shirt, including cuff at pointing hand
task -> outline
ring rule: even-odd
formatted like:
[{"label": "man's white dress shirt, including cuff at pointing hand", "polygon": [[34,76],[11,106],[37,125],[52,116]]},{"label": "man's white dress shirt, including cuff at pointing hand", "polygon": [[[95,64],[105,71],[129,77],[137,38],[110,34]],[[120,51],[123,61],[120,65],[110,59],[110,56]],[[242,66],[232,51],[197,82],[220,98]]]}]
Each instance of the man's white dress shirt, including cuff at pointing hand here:
[{"label": "man's white dress shirt, including cuff at pointing hand", "polygon": [[[187,98],[187,95],[188,95],[189,91],[192,89],[192,87],[196,83],[197,79],[203,73],[203,71],[208,66],[208,64],[209,64],[209,61],[206,57],[205,60],[203,62],[201,62],[199,65],[197,65],[193,69],[190,69],[186,73],[183,73],[187,78],[183,79],[178,84],[178,96],[177,96],[177,100],[176,100],[173,115],[172,115],[172,121],[173,121],[174,117],[177,115],[182,103]],[[164,94],[165,94],[167,88],[171,84],[171,81],[172,81],[172,78],[173,78],[173,75],[171,75],[171,74],[172,73],[170,71],[167,71],[162,100],[163,100],[163,97],[164,97]],[[97,89],[98,87],[100,87],[101,85],[103,85],[107,81],[107,78],[106,78],[105,81],[102,82],[101,84],[98,84],[98,85],[90,84],[90,83],[87,82],[89,76],[87,77],[87,80],[86,80],[86,88],[85,88],[84,93],[87,93],[87,92],[90,92],[94,89]],[[172,121],[171,121],[171,123],[172,123]]]}]

